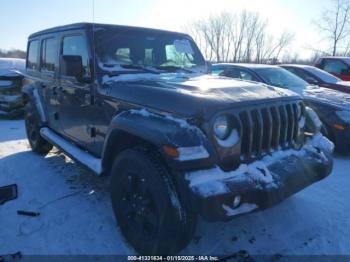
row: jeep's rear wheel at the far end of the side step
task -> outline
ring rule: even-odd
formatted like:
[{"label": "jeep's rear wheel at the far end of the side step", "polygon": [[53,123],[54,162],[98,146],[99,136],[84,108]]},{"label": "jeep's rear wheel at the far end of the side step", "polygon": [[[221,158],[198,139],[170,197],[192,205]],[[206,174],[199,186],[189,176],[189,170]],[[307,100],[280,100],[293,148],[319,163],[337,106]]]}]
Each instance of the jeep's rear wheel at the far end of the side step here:
[{"label": "jeep's rear wheel at the far end of the side step", "polygon": [[39,155],[46,155],[52,149],[52,145],[40,135],[40,124],[36,112],[30,102],[25,106],[24,122],[30,147]]}]

